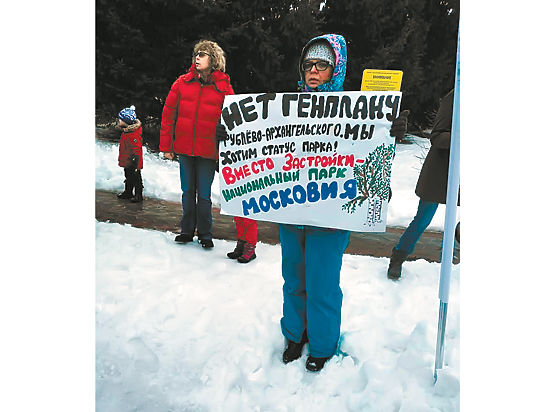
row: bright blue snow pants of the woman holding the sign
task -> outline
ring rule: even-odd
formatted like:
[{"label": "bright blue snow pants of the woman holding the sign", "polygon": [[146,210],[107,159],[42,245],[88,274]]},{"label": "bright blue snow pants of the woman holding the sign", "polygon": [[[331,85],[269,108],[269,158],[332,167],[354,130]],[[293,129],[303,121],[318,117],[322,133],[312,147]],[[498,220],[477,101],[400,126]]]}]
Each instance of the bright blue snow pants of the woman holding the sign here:
[{"label": "bright blue snow pants of the woman holding the sign", "polygon": [[279,225],[283,272],[281,329],[299,342],[307,329],[309,354],[334,355],[340,338],[340,269],[349,243],[347,230]]}]

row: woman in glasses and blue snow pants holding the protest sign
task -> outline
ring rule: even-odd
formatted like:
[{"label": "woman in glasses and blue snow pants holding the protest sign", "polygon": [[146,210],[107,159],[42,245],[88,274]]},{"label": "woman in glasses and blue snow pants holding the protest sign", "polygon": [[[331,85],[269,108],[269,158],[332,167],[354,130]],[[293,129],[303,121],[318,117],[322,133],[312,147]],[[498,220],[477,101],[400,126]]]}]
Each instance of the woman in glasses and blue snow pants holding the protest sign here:
[{"label": "woman in glasses and blue snow pants holding the protest sign", "polygon": [[[314,37],[299,62],[302,92],[343,91],[347,48],[343,36]],[[406,117],[394,121],[390,134],[401,136]],[[309,341],[306,368],[319,371],[337,350],[340,338],[342,290],[340,269],[350,232],[315,226],[279,225],[283,285],[281,329],[286,338],[283,362],[302,355]]]}]

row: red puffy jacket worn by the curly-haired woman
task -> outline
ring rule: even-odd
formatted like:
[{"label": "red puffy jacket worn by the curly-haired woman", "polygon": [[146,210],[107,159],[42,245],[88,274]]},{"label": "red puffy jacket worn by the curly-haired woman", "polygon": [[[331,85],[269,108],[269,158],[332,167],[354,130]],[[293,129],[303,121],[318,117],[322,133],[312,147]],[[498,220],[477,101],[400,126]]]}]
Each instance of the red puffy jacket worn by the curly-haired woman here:
[{"label": "red puffy jacket worn by the curly-haired woman", "polygon": [[172,85],[160,126],[160,151],[217,159],[216,124],[226,95],[234,94],[229,76],[219,70],[202,83],[192,65]]}]

